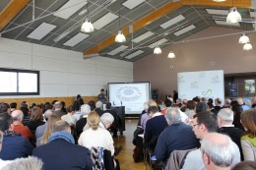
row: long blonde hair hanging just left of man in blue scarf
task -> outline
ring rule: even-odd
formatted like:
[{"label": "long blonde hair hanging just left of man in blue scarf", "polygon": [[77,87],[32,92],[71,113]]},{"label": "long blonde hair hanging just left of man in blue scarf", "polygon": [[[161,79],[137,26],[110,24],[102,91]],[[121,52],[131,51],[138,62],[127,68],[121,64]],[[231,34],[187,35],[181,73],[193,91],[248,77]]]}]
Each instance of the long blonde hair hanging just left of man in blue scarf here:
[{"label": "long blonde hair hanging just left of man in blue scarf", "polygon": [[44,130],[44,134],[38,141],[36,141],[36,146],[46,144],[48,142],[49,137],[51,136],[51,134],[53,132],[53,125],[55,122],[57,122],[59,120],[60,120],[60,116],[50,115],[50,117],[48,118],[48,121],[47,121],[46,128]]}]

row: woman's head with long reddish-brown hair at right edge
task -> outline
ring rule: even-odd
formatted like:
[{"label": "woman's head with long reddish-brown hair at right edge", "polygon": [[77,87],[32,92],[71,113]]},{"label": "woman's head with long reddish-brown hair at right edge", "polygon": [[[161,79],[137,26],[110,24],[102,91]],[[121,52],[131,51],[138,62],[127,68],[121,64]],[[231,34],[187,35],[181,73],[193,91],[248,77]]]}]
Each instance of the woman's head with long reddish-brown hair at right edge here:
[{"label": "woman's head with long reddish-brown hair at right edge", "polygon": [[245,110],[241,114],[241,123],[249,138],[256,137],[256,109]]}]

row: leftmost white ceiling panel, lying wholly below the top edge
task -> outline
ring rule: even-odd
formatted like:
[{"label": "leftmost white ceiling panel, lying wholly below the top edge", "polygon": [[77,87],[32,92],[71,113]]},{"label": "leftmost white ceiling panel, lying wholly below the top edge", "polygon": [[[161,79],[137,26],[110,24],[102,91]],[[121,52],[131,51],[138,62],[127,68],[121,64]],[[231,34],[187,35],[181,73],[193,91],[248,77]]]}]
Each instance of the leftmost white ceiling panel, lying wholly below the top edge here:
[{"label": "leftmost white ceiling panel, lying wholly below the top edge", "polygon": [[40,26],[35,28],[27,37],[40,40],[54,28],[56,28],[56,26],[42,23]]}]

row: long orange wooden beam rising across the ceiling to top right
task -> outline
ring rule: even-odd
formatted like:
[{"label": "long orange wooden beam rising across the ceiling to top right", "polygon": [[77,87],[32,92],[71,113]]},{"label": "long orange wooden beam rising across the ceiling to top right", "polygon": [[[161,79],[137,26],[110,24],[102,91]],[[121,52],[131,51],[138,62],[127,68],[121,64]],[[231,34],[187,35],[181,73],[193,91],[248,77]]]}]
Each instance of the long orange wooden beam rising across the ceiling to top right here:
[{"label": "long orange wooden beam rising across the ceiling to top right", "polygon": [[[195,5],[195,6],[214,6],[214,7],[232,7],[235,6],[237,8],[251,8],[251,0],[226,0],[224,2],[214,2],[213,0],[180,0],[177,2],[169,2],[149,15],[139,19],[138,21],[132,24],[133,31],[136,31],[140,28],[144,28],[149,24],[156,22],[161,17],[169,14],[170,12],[182,7],[183,5]],[[129,26],[122,29],[123,34],[128,36]],[[98,42],[96,46],[84,51],[84,55],[99,53],[103,49],[107,48],[111,44],[115,43],[114,39],[116,33],[113,33],[109,37],[105,38],[101,42]]]}]

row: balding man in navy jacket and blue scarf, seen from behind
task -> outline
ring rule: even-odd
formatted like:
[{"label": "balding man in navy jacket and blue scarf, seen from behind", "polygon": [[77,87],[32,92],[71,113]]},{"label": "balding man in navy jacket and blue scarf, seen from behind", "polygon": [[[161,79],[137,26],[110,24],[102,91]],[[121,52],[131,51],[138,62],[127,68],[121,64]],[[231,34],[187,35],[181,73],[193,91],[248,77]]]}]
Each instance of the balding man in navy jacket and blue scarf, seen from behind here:
[{"label": "balding man in navy jacket and blue scarf, seen from behind", "polygon": [[76,145],[68,123],[59,120],[53,125],[53,134],[46,144],[33,149],[32,155],[43,162],[43,170],[92,170],[88,148]]}]

